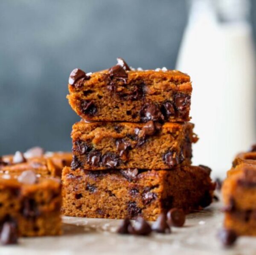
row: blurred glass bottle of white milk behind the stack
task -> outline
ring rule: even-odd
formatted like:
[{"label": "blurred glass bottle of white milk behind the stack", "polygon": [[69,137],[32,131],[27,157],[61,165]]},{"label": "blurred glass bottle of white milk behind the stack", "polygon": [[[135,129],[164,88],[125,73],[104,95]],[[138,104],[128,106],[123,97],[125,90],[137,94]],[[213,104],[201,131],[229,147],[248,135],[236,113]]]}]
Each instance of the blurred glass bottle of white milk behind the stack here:
[{"label": "blurred glass bottle of white milk behind the stack", "polygon": [[191,76],[191,116],[199,141],[193,164],[224,177],[255,142],[255,62],[247,1],[193,0],[177,59]]}]

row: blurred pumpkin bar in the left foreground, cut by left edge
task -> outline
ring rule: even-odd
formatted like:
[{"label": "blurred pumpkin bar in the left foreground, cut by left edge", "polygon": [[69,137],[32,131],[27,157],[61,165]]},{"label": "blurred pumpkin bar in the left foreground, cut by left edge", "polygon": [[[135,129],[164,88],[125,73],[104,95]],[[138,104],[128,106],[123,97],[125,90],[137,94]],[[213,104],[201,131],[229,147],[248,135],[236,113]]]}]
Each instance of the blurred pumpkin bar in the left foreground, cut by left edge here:
[{"label": "blurred pumpkin bar in the left foreground, cut by left edge", "polygon": [[11,226],[17,236],[60,235],[60,209],[59,178],[37,177],[32,170],[0,174],[1,231]]}]

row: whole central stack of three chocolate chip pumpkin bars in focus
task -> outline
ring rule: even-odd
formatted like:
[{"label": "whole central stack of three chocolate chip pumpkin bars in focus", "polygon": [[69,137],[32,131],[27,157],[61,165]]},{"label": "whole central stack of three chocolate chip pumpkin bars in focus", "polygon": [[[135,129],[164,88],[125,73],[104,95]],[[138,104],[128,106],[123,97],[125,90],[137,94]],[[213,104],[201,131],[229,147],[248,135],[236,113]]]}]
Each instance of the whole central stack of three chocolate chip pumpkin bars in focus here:
[{"label": "whole central stack of three chocolate chip pumpkin bars in focus", "polygon": [[109,70],[73,70],[68,87],[82,119],[73,125],[71,168],[62,172],[65,215],[156,220],[212,202],[210,169],[191,166],[198,138],[188,75],[134,70],[118,58]]}]

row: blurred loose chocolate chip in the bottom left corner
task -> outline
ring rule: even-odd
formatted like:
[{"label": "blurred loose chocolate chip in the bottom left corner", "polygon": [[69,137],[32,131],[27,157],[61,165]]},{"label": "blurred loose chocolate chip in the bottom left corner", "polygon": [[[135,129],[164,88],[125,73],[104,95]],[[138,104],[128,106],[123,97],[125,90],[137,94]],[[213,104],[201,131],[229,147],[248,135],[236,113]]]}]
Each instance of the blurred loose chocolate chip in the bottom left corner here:
[{"label": "blurred loose chocolate chip in the bottom left corner", "polygon": [[0,242],[3,245],[15,244],[18,242],[16,223],[9,221],[3,223],[2,231],[0,234]]}]

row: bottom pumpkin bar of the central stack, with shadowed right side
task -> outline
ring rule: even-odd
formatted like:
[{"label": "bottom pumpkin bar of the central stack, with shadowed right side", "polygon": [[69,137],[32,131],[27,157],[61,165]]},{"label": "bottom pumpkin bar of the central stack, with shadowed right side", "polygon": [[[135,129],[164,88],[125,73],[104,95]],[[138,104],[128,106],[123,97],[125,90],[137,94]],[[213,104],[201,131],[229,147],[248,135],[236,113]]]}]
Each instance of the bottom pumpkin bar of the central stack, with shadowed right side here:
[{"label": "bottom pumpkin bar of the central stack, with shadowed right side", "polygon": [[174,170],[71,170],[62,172],[62,211],[67,216],[156,220],[171,208],[186,213],[212,202],[215,184],[210,169],[183,166]]}]

